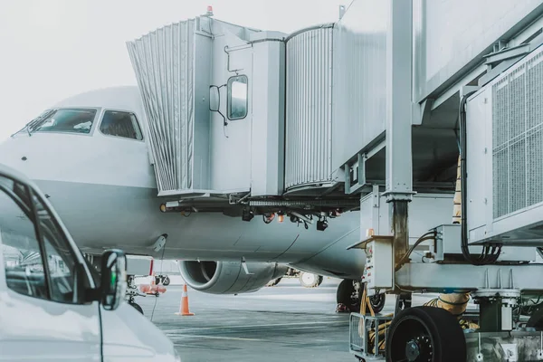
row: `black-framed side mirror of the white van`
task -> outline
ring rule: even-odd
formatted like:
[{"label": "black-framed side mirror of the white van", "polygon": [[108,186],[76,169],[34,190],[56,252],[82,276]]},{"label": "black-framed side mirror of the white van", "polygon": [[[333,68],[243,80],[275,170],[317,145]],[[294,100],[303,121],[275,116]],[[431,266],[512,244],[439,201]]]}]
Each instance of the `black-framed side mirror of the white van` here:
[{"label": "black-framed side mirror of the white van", "polygon": [[100,300],[105,310],[116,310],[127,292],[127,257],[120,250],[102,253]]}]

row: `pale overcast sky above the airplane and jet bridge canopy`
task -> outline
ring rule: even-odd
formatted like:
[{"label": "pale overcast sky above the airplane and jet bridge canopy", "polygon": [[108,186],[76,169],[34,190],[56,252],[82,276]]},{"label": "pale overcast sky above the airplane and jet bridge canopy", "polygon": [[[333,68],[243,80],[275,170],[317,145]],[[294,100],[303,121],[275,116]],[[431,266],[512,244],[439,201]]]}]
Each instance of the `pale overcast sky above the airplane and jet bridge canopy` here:
[{"label": "pale overcast sky above the airplane and jet bridge canopy", "polygon": [[351,0],[0,0],[0,141],[58,100],[136,84],[126,42],[205,13],[291,33]]}]

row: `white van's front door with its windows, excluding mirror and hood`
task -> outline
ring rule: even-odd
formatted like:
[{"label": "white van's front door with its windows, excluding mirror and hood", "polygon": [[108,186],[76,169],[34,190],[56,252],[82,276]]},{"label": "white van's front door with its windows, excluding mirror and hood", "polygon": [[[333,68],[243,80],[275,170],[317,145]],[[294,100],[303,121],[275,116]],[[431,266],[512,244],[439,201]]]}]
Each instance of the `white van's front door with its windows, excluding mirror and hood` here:
[{"label": "white van's front door with its windows, excluding mirror and hood", "polygon": [[0,175],[0,360],[99,361],[98,301],[60,224],[29,186]]}]

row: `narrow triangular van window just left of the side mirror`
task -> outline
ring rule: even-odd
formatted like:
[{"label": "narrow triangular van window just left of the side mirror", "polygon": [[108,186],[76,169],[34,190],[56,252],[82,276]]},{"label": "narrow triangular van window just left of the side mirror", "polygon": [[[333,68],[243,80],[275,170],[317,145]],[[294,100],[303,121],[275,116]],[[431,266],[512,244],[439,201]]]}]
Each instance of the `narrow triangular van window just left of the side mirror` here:
[{"label": "narrow triangular van window just left of the side mirror", "polygon": [[52,214],[37,196],[34,195],[33,198],[49,266],[51,300],[62,303],[81,303],[83,289],[89,287],[87,278],[85,274],[78,272],[78,270],[81,271],[81,265]]}]

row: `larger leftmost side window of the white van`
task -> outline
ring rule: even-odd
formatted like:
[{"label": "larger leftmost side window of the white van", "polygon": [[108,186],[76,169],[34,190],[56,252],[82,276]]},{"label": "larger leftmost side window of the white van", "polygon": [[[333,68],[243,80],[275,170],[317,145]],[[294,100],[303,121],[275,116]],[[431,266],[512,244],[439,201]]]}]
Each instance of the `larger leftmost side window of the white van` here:
[{"label": "larger leftmost side window of the white van", "polygon": [[24,186],[0,176],[0,243],[5,281],[15,292],[47,299],[43,257],[27,196]]}]

